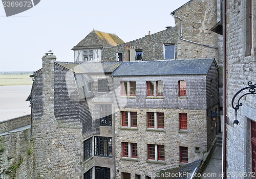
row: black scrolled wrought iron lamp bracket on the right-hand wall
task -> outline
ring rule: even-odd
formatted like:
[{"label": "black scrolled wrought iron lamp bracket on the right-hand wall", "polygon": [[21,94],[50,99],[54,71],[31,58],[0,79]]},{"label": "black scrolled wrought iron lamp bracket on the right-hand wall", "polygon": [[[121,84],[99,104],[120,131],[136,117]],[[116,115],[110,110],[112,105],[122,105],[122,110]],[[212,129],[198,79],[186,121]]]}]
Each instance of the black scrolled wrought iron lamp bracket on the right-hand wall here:
[{"label": "black scrolled wrought iron lamp bracket on the right-hand wall", "polygon": [[[255,85],[256,85],[256,84],[252,85],[252,82],[248,82],[248,86],[247,86],[247,87],[245,87],[245,88],[239,90],[239,91],[233,96],[232,101],[231,101],[231,105],[232,105],[232,108],[234,109],[234,111],[236,112],[236,114],[235,114],[235,115],[236,115],[236,119],[234,120],[233,124],[237,124],[237,125],[239,124],[239,121],[237,120],[237,110],[239,110],[240,106],[243,106],[243,104],[240,103],[240,99],[241,99],[242,97],[244,97],[245,95],[247,95],[247,94],[256,94],[256,93],[255,93],[255,91],[256,91],[256,86],[255,86]],[[243,94],[241,97],[239,97],[238,102],[237,102],[237,105],[234,106],[234,99],[237,97],[237,95],[238,95],[239,93],[241,93],[242,91],[244,91],[244,90],[246,90],[246,89],[249,89],[249,92],[248,92],[248,93],[245,93],[245,94]]]}]

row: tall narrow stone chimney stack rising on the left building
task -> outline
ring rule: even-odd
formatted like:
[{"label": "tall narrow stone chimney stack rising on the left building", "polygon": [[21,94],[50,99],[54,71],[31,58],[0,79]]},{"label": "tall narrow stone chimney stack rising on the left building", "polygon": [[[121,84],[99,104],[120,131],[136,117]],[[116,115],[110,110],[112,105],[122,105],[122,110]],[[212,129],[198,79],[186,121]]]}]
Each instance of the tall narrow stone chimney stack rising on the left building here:
[{"label": "tall narrow stone chimney stack rising on the left building", "polygon": [[42,57],[42,115],[54,116],[54,63],[53,52]]}]

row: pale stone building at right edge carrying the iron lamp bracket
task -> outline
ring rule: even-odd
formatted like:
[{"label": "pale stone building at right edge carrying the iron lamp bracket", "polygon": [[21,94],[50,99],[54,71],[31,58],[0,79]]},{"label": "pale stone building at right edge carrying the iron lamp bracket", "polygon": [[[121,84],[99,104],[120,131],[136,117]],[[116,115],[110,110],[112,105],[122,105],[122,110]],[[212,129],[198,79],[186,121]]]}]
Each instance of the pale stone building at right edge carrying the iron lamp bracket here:
[{"label": "pale stone building at right edge carrying the iron lamp bracket", "polygon": [[[239,101],[242,106],[237,110],[238,125],[233,124],[236,113],[231,106],[232,98],[239,90],[249,87],[249,81],[252,82],[250,85],[256,83],[255,8],[255,0],[226,1],[227,130],[226,161],[224,162],[226,162],[227,176],[230,176],[231,172],[237,173],[232,178],[253,178],[252,173],[249,172],[255,172],[256,96],[247,94]],[[234,107],[238,105],[238,99],[245,93],[249,93],[249,89],[243,90],[234,98]],[[241,175],[241,173],[244,174]]]}]

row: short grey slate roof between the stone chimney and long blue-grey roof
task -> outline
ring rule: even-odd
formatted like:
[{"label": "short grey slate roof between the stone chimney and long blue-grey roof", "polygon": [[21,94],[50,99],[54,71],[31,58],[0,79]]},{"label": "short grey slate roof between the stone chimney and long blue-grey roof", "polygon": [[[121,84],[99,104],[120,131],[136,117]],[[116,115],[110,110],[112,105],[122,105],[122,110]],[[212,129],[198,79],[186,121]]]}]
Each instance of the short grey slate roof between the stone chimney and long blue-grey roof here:
[{"label": "short grey slate roof between the stone chimney and long blue-grey roof", "polygon": [[55,62],[75,73],[112,73],[123,62]]}]

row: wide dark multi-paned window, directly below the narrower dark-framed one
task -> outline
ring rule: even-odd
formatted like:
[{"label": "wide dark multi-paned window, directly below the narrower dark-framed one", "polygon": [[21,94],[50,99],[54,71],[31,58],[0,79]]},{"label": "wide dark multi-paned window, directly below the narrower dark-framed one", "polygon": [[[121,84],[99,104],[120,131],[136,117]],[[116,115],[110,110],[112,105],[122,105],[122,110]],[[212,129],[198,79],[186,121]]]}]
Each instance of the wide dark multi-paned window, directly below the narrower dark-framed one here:
[{"label": "wide dark multi-paned window, directly below the narrower dark-framed one", "polygon": [[95,156],[112,157],[112,137],[95,136]]}]

